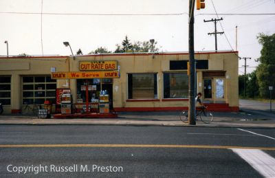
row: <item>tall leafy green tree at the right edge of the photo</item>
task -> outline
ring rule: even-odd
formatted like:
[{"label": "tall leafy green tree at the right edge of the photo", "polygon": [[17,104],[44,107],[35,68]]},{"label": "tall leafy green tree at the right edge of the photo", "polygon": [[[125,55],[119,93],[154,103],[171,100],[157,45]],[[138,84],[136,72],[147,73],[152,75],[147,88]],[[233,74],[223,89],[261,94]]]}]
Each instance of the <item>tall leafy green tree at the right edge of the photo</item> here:
[{"label": "tall leafy green tree at the right edge of the photo", "polygon": [[275,85],[275,34],[257,36],[259,43],[263,46],[261,57],[258,59],[260,65],[256,71],[259,83],[259,94],[261,98],[269,98],[269,86]]}]

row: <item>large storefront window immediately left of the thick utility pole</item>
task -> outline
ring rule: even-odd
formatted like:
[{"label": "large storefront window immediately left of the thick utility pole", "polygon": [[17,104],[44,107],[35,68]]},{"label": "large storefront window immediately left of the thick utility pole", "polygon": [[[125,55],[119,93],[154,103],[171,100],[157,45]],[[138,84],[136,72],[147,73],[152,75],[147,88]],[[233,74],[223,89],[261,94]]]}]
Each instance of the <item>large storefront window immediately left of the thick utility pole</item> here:
[{"label": "large storefront window immediately left of the thick utility pole", "polygon": [[188,98],[186,73],[164,73],[164,98]]}]

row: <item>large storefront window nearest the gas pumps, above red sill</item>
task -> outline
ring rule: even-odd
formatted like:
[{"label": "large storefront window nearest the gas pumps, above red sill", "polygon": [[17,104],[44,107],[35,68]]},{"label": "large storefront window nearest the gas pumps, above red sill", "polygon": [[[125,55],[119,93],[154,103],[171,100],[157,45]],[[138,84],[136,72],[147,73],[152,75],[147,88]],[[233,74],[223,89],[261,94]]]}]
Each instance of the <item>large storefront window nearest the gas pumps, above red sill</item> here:
[{"label": "large storefront window nearest the gas pumps, above red sill", "polygon": [[128,99],[157,99],[157,74],[128,74]]}]

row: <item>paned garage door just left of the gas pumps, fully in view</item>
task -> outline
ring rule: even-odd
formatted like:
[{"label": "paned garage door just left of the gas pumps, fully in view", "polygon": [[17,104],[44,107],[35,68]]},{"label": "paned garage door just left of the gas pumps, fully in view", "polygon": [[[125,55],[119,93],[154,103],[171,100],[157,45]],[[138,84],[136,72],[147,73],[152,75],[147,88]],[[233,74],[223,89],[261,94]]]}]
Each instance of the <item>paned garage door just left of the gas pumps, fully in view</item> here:
[{"label": "paned garage door just left of the gas pumps, fully in view", "polygon": [[56,102],[56,80],[50,76],[23,76],[23,103],[43,104]]}]

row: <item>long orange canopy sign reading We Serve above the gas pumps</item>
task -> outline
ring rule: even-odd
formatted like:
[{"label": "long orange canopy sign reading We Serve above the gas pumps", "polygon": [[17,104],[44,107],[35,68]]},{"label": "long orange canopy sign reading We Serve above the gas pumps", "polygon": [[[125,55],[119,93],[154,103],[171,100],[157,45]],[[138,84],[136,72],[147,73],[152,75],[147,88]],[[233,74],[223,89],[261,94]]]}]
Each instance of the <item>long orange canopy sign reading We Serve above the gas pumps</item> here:
[{"label": "long orange canopy sign reading We Serve above the gas pumps", "polygon": [[120,78],[119,71],[57,71],[52,79]]}]

